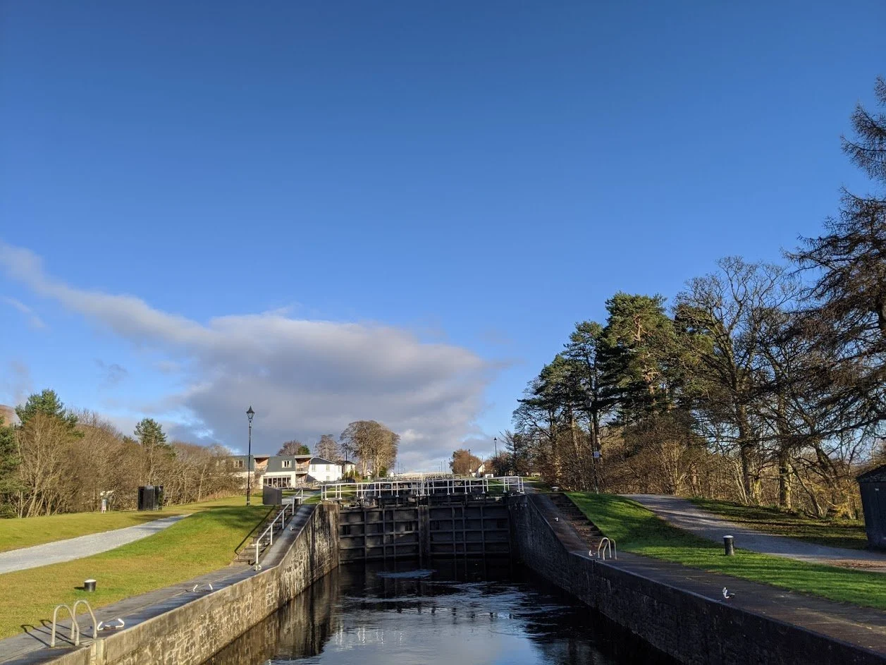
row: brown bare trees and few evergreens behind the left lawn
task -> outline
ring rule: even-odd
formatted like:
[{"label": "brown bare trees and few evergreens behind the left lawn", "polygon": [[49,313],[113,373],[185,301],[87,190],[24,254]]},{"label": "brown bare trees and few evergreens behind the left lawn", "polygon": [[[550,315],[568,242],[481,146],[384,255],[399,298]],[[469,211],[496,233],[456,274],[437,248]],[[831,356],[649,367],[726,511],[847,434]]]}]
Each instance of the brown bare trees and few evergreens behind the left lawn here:
[{"label": "brown bare trees and few evergreens behind the left lawn", "polygon": [[94,411],[66,409],[49,389],[30,395],[15,413],[14,426],[0,417],[2,517],[95,511],[103,497],[114,509],[132,509],[138,487],[148,484],[162,485],[169,504],[239,490],[229,450],[168,442],[153,419],[127,436]]}]

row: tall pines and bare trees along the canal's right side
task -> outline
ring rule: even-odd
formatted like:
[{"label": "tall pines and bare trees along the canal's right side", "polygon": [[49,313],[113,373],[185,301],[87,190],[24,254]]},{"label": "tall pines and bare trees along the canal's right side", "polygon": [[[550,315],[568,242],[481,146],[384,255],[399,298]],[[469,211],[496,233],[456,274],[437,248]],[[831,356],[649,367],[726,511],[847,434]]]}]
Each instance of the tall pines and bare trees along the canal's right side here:
[{"label": "tall pines and bare trees along the canal's right side", "polygon": [[[874,86],[886,109],[886,81]],[[526,387],[509,465],[568,488],[661,492],[857,516],[886,461],[886,113],[857,106],[842,191],[784,264],[728,256],[667,303],[616,293]]]}]

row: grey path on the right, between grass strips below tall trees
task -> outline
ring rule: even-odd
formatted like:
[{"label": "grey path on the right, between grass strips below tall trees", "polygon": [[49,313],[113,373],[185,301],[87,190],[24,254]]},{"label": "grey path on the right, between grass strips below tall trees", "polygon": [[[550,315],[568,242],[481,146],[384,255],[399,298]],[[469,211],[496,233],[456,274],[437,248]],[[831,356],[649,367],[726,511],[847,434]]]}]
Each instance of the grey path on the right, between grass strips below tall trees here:
[{"label": "grey path on the right, between grass strips below tall trees", "polygon": [[886,573],[886,554],[866,550],[846,550],[806,543],[787,536],[763,534],[704,511],[685,498],[657,494],[633,494],[628,495],[628,498],[646,506],[673,526],[706,540],[722,543],[723,536],[734,536],[735,547],[751,552],[823,563],[828,566],[864,568],[871,572]]}]

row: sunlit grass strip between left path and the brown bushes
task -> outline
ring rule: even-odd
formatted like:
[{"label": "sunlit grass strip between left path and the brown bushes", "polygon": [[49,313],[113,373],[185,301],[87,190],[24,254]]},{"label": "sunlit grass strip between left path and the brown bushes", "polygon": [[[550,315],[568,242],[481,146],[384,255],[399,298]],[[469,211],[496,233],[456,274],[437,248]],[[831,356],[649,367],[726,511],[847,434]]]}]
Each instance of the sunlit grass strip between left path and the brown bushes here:
[{"label": "sunlit grass strip between left path and the brown bushes", "polygon": [[[261,496],[259,495],[259,503]],[[0,520],[0,552],[30,547],[56,540],[66,540],[87,534],[111,531],[115,528],[134,527],[161,517],[197,512],[223,505],[243,505],[245,497],[226,497],[204,501],[199,504],[166,506],[161,511],[137,512],[68,512],[63,515],[27,517],[22,520]]]}]

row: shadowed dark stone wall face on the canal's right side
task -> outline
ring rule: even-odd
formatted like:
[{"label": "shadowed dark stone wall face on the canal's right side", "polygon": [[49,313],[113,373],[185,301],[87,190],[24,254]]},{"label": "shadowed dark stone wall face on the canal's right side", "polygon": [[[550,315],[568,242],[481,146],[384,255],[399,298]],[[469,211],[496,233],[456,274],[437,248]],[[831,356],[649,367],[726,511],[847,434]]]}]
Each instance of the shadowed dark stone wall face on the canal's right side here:
[{"label": "shadowed dark stone wall face on the canal's right side", "polygon": [[882,656],[570,552],[532,497],[511,502],[514,550],[540,575],[686,663],[873,665]]}]

